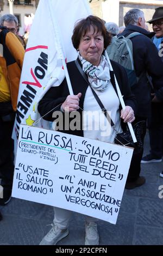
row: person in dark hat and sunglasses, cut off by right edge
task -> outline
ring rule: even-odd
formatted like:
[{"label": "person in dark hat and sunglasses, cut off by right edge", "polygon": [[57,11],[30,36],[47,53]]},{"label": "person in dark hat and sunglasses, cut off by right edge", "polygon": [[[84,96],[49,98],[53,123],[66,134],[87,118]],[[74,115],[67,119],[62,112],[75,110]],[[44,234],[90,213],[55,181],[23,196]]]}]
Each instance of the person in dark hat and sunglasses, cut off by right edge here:
[{"label": "person in dark hat and sunglasses, cut off by right edge", "polygon": [[[163,62],[163,7],[155,9],[152,20],[147,21],[153,28],[155,36],[152,38],[158,48],[159,56]],[[141,163],[152,163],[162,161],[163,149],[163,113],[162,102],[157,102],[153,94],[152,100],[152,119],[149,122],[150,153],[142,157]],[[160,173],[163,178],[163,171]]]}]

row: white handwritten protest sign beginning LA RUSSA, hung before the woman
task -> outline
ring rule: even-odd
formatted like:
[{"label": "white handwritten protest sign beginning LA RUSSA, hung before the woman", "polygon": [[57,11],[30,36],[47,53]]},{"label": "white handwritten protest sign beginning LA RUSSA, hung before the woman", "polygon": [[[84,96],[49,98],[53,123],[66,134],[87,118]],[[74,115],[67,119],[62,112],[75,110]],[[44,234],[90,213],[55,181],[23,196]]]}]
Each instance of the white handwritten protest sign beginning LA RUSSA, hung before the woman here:
[{"label": "white handwritten protest sign beginning LA RUSSA, hung before the woman", "polygon": [[133,149],[21,125],[12,197],[116,223]]}]

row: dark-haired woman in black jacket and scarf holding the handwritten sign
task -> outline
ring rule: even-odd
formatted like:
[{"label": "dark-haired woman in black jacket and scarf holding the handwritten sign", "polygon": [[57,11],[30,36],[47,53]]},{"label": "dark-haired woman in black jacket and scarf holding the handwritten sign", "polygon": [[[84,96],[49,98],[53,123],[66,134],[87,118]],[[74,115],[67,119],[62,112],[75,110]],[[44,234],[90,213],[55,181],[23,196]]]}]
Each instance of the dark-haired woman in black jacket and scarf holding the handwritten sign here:
[{"label": "dark-haired woman in black jacket and scarf holding the handwritten sign", "polygon": [[[126,71],[115,62],[111,62],[114,70],[111,71],[104,56],[104,50],[110,41],[111,35],[106,31],[103,21],[96,16],[88,16],[86,19],[80,20],[74,27],[72,43],[78,51],[78,58],[76,61],[67,63],[74,95],[69,95],[65,79],[60,86],[51,87],[38,106],[39,113],[43,119],[48,121],[56,120],[58,111],[62,112],[62,115],[70,113],[70,118],[64,119],[64,124],[59,119],[57,120],[55,130],[114,143],[116,131],[122,131],[121,119],[124,123],[134,121],[136,102],[128,86]],[[114,73],[126,103],[124,111],[120,107],[120,100],[117,96]],[[105,106],[103,109],[101,102]],[[53,112],[54,108],[55,112]],[[100,115],[104,115],[104,111],[109,112],[116,131],[108,120],[99,118]],[[55,114],[56,112],[57,114]],[[91,121],[83,118],[87,112],[96,112],[96,115],[92,114]],[[75,122],[71,122],[75,116]],[[68,120],[68,124],[66,120]],[[102,124],[98,125],[98,129],[90,130],[90,127],[95,128],[96,120],[102,120]],[[67,125],[69,129],[67,129]],[[53,227],[40,245],[55,245],[68,235],[71,211],[54,208],[54,213]],[[85,233],[85,245],[99,244],[96,218],[86,216]]]}]

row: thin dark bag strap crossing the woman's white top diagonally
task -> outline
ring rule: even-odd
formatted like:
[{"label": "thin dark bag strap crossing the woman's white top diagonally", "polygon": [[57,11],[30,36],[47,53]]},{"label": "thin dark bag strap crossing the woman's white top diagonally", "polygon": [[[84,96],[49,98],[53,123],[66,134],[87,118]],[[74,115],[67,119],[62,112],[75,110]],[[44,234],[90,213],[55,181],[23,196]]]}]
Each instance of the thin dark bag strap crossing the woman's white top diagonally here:
[{"label": "thin dark bag strap crossing the woman's white top diagonally", "polygon": [[78,62],[78,59],[75,60],[75,63],[76,63],[76,66],[80,72],[80,74],[83,76],[84,80],[87,82],[87,84],[89,85],[89,87],[91,88],[92,90],[92,93],[93,95],[95,96],[95,99],[97,100],[98,102],[98,105],[101,107],[106,119],[109,121],[109,124],[111,125],[111,127],[113,127],[113,129],[115,129],[115,124],[113,123],[110,115],[108,114],[108,112],[106,111],[106,108],[104,107],[103,103],[101,102],[101,100],[99,99],[98,95],[96,94],[95,90],[93,90],[93,88],[91,87],[88,79],[87,79],[87,76],[85,75],[82,67],[80,66],[79,62]]}]

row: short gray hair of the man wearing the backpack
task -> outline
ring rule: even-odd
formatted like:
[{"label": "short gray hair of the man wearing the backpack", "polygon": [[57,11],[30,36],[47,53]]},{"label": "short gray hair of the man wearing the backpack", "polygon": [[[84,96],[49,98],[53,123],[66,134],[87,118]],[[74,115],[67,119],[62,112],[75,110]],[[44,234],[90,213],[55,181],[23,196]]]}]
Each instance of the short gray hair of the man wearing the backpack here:
[{"label": "short gray hair of the man wearing the backpack", "polygon": [[144,17],[144,13],[140,9],[130,9],[126,15],[124,15],[124,25],[137,25],[139,18]]}]

